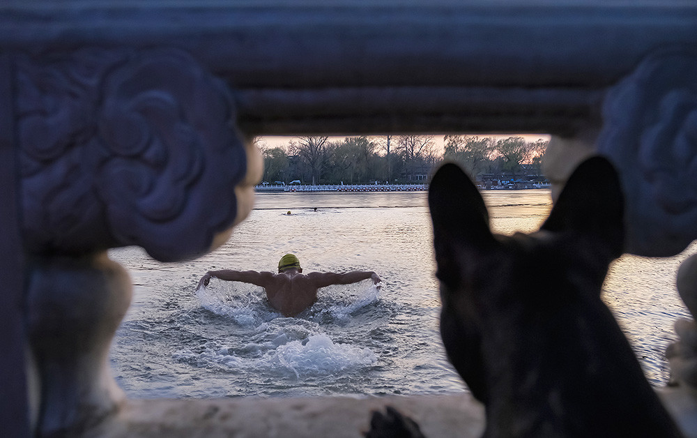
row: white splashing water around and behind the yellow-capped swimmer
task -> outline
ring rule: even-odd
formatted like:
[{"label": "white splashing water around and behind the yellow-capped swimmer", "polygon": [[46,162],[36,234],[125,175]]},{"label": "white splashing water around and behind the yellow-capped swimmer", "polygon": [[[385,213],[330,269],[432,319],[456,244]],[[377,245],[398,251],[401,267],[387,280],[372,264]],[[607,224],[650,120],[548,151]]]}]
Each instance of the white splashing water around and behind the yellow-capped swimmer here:
[{"label": "white splashing water around and behind the yellow-capped swimmer", "polygon": [[198,368],[253,370],[296,380],[369,367],[378,361],[371,349],[332,340],[323,324],[348,321],[376,303],[379,291],[370,280],[323,288],[318,303],[300,318],[286,318],[269,307],[262,288],[212,279],[196,291],[201,307],[250,332],[229,345],[213,340],[183,349],[174,359]]}]

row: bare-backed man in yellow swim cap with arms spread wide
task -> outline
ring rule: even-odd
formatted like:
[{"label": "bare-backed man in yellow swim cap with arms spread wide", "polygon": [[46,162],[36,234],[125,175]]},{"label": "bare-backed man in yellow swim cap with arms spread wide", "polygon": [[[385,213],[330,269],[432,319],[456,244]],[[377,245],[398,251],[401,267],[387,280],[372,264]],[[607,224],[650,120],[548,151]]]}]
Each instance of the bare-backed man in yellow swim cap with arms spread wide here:
[{"label": "bare-backed man in yellow swim cap with arms spread wide", "polygon": [[208,271],[199,281],[198,287],[207,286],[211,277],[220,280],[239,281],[261,286],[273,308],[286,317],[294,317],[317,301],[317,289],[331,285],[350,285],[372,279],[374,284],[380,277],[373,271],[351,271],[347,273],[311,272],[302,273],[300,261],[293,254],[286,254],[278,262],[278,273],[268,271],[233,271],[221,269]]}]

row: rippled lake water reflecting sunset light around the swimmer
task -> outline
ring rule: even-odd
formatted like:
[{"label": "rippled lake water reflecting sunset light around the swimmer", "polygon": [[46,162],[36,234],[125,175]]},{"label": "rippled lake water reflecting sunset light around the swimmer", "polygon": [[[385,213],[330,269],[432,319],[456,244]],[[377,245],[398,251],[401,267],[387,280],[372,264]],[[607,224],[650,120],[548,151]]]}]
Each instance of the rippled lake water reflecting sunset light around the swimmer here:
[{"label": "rippled lake water reflecting sunset light around the swimmer", "polygon": [[[548,190],[484,198],[504,234],[537,229],[551,208]],[[135,285],[112,346],[116,381],[131,398],[466,391],[438,334],[431,239],[425,192],[279,193],[257,195],[230,241],[200,259],[162,264],[139,248],[111,250]],[[259,287],[213,279],[195,290],[208,270],[275,271],[286,252],[305,273],[376,271],[383,287],[367,280],[322,289],[296,318],[270,308]],[[675,271],[695,252],[625,256],[606,280],[604,300],[654,385],[668,380],[673,322],[689,317]]]}]

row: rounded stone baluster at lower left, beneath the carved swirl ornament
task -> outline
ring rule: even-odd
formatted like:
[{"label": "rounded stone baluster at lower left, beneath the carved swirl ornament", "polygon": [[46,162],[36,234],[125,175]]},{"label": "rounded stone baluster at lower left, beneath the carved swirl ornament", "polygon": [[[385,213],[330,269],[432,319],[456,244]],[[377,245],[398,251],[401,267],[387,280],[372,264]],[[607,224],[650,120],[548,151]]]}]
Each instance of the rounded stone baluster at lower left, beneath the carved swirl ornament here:
[{"label": "rounded stone baluster at lower left, beneath the carved swirl ornament", "polygon": [[106,252],[31,262],[27,312],[39,436],[77,435],[125,399],[108,356],[131,293],[128,273]]}]

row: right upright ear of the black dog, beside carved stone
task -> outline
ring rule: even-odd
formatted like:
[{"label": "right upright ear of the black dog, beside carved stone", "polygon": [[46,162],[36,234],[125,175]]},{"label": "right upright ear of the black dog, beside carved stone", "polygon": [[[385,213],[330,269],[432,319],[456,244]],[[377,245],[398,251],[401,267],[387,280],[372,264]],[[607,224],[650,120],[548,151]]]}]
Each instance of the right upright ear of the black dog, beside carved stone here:
[{"label": "right upright ear of the black dog, beside carved stone", "polygon": [[585,160],[564,186],[541,229],[602,239],[611,257],[622,255],[625,202],[617,172],[600,156]]}]

